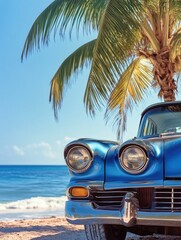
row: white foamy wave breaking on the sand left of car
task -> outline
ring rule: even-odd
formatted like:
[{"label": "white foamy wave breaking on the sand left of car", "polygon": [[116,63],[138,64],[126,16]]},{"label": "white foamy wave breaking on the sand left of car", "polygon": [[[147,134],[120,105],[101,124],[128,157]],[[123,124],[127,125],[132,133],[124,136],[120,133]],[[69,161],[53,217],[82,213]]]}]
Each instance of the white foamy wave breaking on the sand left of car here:
[{"label": "white foamy wave breaking on the sand left of car", "polygon": [[15,202],[0,203],[0,211],[63,210],[66,199],[66,196],[33,197]]}]

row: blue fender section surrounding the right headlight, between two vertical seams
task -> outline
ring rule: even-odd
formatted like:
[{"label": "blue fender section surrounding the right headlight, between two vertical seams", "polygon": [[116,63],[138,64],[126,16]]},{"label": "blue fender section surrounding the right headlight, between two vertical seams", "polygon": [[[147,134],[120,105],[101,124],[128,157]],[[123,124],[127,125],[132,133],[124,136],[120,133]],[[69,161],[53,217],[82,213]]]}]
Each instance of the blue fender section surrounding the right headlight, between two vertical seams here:
[{"label": "blue fender section surrounding the right headlight, between two vertical seams", "polygon": [[120,147],[113,147],[109,150],[106,158],[105,189],[163,186],[163,152],[162,141],[157,138],[134,139],[124,143],[121,148],[127,145],[137,145],[145,149],[149,162],[146,169],[139,174],[126,172],[119,163]]}]

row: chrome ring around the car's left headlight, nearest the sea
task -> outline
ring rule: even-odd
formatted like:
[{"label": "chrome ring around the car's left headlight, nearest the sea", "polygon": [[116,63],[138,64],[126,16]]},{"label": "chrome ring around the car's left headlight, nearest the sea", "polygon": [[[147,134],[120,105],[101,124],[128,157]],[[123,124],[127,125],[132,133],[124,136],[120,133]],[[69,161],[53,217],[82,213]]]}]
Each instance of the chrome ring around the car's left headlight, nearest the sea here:
[{"label": "chrome ring around the car's left headlight, nearest the sea", "polygon": [[[69,156],[70,156],[71,152],[74,151],[76,148],[80,148],[80,149],[83,149],[84,151],[86,151],[87,156],[89,157],[87,165],[85,165],[85,167],[80,168],[80,169],[74,168],[71,165],[70,159],[69,159]],[[84,146],[84,145],[72,145],[72,146],[69,146],[65,150],[64,156],[65,156],[65,161],[67,163],[67,166],[74,173],[83,173],[83,172],[87,171],[90,168],[90,166],[92,164],[92,161],[93,161],[93,153],[90,151],[90,149],[87,146]]]}]

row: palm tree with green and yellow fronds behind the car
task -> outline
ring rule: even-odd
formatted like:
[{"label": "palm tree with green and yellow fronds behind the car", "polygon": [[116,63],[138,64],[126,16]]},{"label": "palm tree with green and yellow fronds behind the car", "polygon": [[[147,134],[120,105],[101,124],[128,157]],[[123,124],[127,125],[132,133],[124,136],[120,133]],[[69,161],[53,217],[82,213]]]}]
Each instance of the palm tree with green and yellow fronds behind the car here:
[{"label": "palm tree with green and yellow fronds behind the car", "polygon": [[[23,57],[49,43],[51,34],[64,37],[67,29],[96,39],[73,52],[51,80],[54,113],[61,106],[70,77],[91,65],[84,95],[91,115],[107,105],[118,135],[125,129],[126,113],[150,88],[174,101],[181,72],[180,0],[54,0],[35,20],[25,41]],[[120,127],[121,126],[121,127]]]}]

